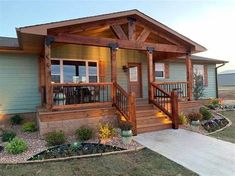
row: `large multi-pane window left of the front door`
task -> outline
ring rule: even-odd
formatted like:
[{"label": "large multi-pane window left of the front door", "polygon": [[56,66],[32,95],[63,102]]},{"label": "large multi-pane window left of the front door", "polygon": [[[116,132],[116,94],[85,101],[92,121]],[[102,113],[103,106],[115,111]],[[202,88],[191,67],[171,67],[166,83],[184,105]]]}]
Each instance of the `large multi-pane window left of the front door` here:
[{"label": "large multi-pane window left of the front door", "polygon": [[53,82],[98,82],[98,64],[95,61],[52,60],[51,69]]}]

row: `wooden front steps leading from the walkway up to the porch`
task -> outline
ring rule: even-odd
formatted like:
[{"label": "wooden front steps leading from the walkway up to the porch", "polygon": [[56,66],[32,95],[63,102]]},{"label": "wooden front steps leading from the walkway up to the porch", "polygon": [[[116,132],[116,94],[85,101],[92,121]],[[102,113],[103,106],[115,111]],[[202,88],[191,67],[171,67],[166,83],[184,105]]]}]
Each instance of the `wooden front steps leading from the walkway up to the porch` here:
[{"label": "wooden front steps leading from the walkway up to the porch", "polygon": [[136,122],[138,134],[172,128],[168,116],[143,99],[136,102]]}]

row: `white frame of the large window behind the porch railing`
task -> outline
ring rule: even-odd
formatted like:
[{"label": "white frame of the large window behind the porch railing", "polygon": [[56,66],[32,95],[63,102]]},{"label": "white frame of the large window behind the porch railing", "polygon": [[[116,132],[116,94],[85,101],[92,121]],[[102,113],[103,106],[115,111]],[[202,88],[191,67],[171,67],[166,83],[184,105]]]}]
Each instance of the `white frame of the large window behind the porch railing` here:
[{"label": "white frame of the large window behind the porch railing", "polygon": [[64,83],[63,61],[81,61],[81,62],[85,62],[85,66],[86,66],[86,80],[87,80],[87,83],[89,83],[88,62],[95,62],[96,65],[97,65],[97,82],[100,82],[100,80],[99,80],[99,61],[98,61],[98,60],[67,59],[67,58],[51,58],[51,60],[59,60],[59,61],[60,61],[60,83]]}]

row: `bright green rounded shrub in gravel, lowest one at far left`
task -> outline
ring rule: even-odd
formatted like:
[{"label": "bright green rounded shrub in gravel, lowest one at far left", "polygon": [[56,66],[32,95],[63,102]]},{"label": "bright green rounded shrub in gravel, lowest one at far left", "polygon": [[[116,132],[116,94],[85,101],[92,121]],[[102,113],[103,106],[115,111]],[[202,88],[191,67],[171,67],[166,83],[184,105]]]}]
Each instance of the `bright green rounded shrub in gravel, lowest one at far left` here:
[{"label": "bright green rounded shrub in gravel, lowest one at far left", "polygon": [[15,137],[6,145],[5,148],[8,153],[16,155],[26,151],[28,149],[28,145],[23,139]]}]

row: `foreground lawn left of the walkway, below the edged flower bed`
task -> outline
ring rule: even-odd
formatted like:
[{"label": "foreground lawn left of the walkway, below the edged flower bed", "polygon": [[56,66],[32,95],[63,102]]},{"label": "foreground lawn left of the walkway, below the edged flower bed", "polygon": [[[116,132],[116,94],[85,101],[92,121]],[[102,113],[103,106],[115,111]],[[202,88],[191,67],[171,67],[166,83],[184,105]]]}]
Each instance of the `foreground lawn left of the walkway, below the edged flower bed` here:
[{"label": "foreground lawn left of the walkway, below the edged flower bed", "polygon": [[196,175],[167,158],[143,149],[138,152],[40,164],[0,165],[1,176],[148,176]]}]

